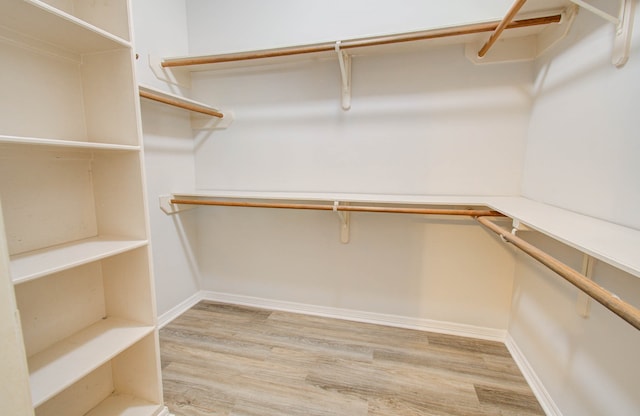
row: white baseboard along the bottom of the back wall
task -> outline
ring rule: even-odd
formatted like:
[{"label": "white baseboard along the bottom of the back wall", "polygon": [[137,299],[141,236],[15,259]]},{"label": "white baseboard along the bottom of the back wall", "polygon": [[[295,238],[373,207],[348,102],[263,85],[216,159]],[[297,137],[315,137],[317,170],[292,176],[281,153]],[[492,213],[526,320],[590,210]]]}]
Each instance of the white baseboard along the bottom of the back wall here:
[{"label": "white baseboard along the bottom of the back wall", "polygon": [[454,322],[435,321],[408,316],[387,315],[376,312],[357,311],[352,309],[317,306],[304,303],[286,302],[251,296],[233,295],[212,291],[200,291],[202,300],[231,303],[277,311],[303,313],[307,315],[323,316],[327,318],[344,319],[348,321],[386,325],[399,328],[415,329],[419,331],[437,332],[441,334],[473,337],[489,341],[504,342],[507,332],[502,329],[486,328],[474,325],[458,324]]}]

